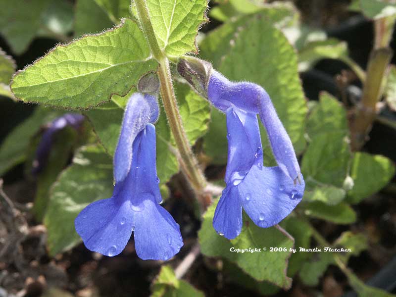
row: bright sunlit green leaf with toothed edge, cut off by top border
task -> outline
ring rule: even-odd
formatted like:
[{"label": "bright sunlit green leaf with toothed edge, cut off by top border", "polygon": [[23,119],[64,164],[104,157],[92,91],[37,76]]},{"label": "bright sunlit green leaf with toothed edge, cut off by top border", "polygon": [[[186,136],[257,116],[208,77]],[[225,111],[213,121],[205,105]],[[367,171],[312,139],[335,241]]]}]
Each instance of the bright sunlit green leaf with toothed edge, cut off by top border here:
[{"label": "bright sunlit green leaf with toothed edge, cut off by top border", "polygon": [[159,47],[168,56],[198,53],[196,37],[207,21],[207,0],[147,0],[148,13]]}]

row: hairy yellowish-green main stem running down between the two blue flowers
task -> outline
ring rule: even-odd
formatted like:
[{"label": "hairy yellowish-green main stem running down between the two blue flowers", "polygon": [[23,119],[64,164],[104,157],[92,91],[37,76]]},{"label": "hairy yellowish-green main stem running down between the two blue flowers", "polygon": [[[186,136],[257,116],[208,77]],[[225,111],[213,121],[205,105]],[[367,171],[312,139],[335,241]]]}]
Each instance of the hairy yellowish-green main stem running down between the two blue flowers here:
[{"label": "hairy yellowish-green main stem running down between the two blue flowers", "polygon": [[206,186],[206,180],[198,166],[198,161],[194,156],[186,133],[183,129],[182,119],[177,106],[175,92],[173,90],[169,60],[158,46],[148,15],[145,0],[135,0],[135,3],[141,21],[141,26],[148,40],[151,53],[153,57],[159,62],[157,74],[160,82],[161,98],[170,129],[180,153],[179,159],[182,171],[191,182],[193,189],[198,194],[198,199],[205,208],[207,206],[207,199],[204,198],[203,192]]}]

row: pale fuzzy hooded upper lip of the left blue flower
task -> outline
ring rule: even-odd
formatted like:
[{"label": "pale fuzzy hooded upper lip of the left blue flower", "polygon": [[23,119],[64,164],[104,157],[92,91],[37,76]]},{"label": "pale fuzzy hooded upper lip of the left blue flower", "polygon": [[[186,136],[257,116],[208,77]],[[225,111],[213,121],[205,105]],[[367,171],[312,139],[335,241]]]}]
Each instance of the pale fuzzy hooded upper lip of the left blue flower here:
[{"label": "pale fuzzy hooded upper lip of the left blue flower", "polygon": [[140,131],[150,120],[150,105],[140,93],[133,94],[128,100],[122,120],[121,133],[114,153],[114,179],[123,181],[132,162],[132,144]]}]

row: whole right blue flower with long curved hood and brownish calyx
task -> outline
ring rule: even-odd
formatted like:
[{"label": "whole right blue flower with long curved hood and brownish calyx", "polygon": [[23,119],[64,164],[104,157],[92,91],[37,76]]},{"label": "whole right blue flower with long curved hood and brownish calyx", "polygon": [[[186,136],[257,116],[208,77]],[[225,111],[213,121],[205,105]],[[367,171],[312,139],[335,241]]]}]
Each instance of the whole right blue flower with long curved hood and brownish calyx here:
[{"label": "whole right blue flower with long curved hood and brownish calyx", "polygon": [[[182,60],[178,70],[227,117],[226,188],[215,210],[214,229],[228,239],[237,237],[242,209],[259,227],[278,224],[300,202],[305,185],[292,142],[268,94],[253,83],[231,82],[198,59]],[[257,113],[267,130],[276,167],[263,166]]]}]

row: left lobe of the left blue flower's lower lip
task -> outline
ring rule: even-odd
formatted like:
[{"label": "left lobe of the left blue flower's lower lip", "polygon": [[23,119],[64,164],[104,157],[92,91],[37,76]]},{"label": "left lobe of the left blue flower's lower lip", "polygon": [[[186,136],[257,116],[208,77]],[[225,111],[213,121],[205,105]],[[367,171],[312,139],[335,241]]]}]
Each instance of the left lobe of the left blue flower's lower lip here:
[{"label": "left lobe of the left blue flower's lower lip", "polygon": [[85,246],[106,256],[118,255],[128,243],[133,228],[131,203],[112,197],[89,204],[74,221]]}]

